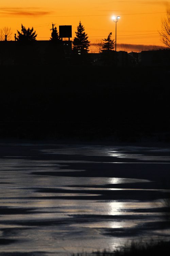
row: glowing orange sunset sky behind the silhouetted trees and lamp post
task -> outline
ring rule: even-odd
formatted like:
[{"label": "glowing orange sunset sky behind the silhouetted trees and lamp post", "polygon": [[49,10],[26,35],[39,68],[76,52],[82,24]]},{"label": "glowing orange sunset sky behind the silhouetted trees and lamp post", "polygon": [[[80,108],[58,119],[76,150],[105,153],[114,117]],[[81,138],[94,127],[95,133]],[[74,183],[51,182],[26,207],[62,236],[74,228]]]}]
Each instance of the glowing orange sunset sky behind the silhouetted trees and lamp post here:
[{"label": "glowing orange sunset sky behind the silhouetted trees and lamp post", "polygon": [[[158,30],[165,17],[170,1],[156,0],[1,0],[0,29],[11,28],[14,34],[24,27],[34,28],[37,40],[49,40],[52,23],[72,25],[72,39],[81,20],[91,44],[106,38],[115,25],[112,16],[120,16],[117,22],[117,50],[142,50],[149,45],[164,46]],[[137,46],[136,46],[137,45]],[[146,46],[145,46],[146,45]],[[95,51],[95,48],[93,48]]]}]

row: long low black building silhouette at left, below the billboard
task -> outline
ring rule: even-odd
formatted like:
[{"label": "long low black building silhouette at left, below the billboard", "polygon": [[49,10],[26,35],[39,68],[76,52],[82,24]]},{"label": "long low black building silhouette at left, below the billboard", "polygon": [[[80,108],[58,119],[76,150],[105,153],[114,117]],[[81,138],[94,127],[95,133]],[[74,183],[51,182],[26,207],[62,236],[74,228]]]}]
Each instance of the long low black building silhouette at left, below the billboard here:
[{"label": "long low black building silhouette at left, below the billboard", "polygon": [[[59,44],[55,44],[51,40],[35,41],[32,46],[20,45],[18,41],[0,41],[0,65],[17,65],[26,64],[28,55],[32,64],[46,64],[50,62],[54,64],[54,58],[70,58],[72,53],[72,41],[61,40]],[[20,60],[19,60],[20,59]],[[19,62],[18,62],[19,61]]]}]

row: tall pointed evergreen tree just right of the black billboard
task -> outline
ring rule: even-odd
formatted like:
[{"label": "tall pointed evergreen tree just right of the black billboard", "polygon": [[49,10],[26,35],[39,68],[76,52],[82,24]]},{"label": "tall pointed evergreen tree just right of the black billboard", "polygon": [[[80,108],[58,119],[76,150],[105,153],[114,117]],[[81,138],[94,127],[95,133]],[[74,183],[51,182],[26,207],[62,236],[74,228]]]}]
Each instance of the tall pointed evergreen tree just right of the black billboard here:
[{"label": "tall pointed evergreen tree just right of the black billboard", "polygon": [[87,54],[89,43],[88,36],[84,31],[84,27],[81,24],[81,21],[79,22],[79,26],[77,27],[77,32],[75,32],[76,37],[74,37],[73,40],[73,52],[77,54]]}]

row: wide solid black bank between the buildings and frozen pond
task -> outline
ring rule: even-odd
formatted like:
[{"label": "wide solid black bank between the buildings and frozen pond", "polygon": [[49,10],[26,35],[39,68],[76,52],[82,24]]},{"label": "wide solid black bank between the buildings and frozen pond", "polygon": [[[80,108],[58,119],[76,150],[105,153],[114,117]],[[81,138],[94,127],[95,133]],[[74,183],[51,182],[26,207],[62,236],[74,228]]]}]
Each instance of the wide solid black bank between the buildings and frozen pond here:
[{"label": "wide solid black bank between the buildings and frozen pond", "polygon": [[169,73],[89,65],[1,67],[1,138],[170,141]]}]

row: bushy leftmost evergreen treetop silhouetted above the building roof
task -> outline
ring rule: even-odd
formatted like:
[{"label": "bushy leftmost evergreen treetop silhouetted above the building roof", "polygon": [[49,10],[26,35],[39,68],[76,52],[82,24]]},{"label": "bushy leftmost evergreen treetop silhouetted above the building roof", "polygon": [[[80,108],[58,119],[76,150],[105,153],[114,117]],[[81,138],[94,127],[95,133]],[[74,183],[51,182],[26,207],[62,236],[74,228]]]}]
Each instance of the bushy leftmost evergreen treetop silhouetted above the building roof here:
[{"label": "bushy leftmost evergreen treetop silhouetted above the building roof", "polygon": [[16,37],[17,41],[20,41],[22,43],[29,43],[29,42],[36,41],[37,34],[36,34],[36,31],[33,32],[33,30],[34,30],[33,27],[32,29],[30,28],[26,29],[26,27],[24,27],[21,24],[21,32],[17,30],[17,33],[18,33],[18,36]]}]

